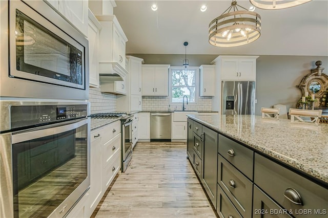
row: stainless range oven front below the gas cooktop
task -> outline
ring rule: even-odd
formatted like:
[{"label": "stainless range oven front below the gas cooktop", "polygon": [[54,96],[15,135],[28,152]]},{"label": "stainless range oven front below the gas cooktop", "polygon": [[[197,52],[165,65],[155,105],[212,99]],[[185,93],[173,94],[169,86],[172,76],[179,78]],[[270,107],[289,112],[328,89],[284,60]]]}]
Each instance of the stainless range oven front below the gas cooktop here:
[{"label": "stainless range oven front below the gas cooktop", "polygon": [[127,118],[121,119],[122,123],[122,148],[121,148],[121,157],[122,157],[122,167],[121,171],[125,172],[128,168],[129,163],[132,159],[132,119]]}]

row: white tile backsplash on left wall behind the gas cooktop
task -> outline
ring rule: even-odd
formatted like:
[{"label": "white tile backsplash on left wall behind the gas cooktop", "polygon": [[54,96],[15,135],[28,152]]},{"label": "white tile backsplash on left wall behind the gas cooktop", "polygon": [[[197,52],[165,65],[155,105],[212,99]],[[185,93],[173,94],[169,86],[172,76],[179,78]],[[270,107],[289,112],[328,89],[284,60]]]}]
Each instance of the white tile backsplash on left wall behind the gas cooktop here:
[{"label": "white tile backsplash on left wall behind the gas cooktop", "polygon": [[100,92],[100,88],[90,88],[91,114],[116,111],[116,95]]}]

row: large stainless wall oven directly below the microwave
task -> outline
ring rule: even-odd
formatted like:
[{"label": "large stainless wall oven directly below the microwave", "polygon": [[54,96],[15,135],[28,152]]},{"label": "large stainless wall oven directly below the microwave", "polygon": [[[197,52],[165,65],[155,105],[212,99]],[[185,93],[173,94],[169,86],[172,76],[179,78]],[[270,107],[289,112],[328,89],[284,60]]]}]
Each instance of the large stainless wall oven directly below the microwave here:
[{"label": "large stainless wall oven directly below the microwave", "polygon": [[0,105],[0,217],[64,217],[90,186],[89,103]]}]

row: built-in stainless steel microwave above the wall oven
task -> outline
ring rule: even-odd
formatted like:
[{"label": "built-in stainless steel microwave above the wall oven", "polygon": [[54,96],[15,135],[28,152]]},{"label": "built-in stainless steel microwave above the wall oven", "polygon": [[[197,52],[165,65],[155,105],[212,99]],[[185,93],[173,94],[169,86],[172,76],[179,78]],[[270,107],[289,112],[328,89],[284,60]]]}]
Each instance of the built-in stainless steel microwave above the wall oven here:
[{"label": "built-in stainless steel microwave above the wall oven", "polygon": [[1,96],[87,100],[88,40],[44,1],[1,11]]}]

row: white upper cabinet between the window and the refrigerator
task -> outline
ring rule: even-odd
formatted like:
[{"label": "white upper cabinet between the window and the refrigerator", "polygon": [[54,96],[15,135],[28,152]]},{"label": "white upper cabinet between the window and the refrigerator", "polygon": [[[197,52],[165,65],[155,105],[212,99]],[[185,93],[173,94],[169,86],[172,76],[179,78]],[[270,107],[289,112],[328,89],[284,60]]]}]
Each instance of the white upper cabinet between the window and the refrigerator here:
[{"label": "white upper cabinet between the window and the refrigerator", "polygon": [[215,65],[199,67],[199,96],[215,96]]}]

